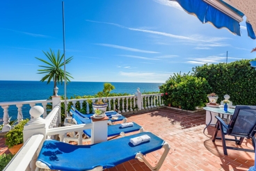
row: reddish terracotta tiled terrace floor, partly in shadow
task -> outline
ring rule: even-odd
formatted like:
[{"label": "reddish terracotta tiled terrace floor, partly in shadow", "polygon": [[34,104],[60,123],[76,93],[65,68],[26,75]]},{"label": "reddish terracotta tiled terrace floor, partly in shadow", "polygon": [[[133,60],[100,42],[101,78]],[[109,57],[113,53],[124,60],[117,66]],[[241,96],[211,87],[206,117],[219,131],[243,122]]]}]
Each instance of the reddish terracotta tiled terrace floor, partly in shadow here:
[{"label": "reddish terracotta tiled terrace floor, partly in shadow", "polygon": [[[205,111],[187,113],[170,108],[159,108],[147,113],[126,115],[128,122],[140,124],[145,131],[166,140],[170,152],[160,170],[248,170],[254,165],[254,153],[227,149],[228,156],[223,154],[221,140],[211,142],[214,127],[205,128]],[[1,138],[0,138],[1,139]],[[0,140],[1,151],[8,153]],[[236,146],[229,142],[229,146]],[[242,147],[253,149],[251,140],[244,140]],[[246,147],[247,148],[247,147]],[[147,159],[155,165],[163,151],[147,154]],[[150,170],[144,163],[136,159],[127,161],[115,168],[115,171]]]}]

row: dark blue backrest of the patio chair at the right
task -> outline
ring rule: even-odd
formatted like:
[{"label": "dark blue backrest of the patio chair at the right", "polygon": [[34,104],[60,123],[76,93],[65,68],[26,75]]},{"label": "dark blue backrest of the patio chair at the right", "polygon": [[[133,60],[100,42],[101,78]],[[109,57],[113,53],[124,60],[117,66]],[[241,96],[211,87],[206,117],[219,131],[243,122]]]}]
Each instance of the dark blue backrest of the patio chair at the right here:
[{"label": "dark blue backrest of the patio chair at the right", "polygon": [[227,130],[228,135],[250,138],[255,134],[256,106],[236,106]]}]

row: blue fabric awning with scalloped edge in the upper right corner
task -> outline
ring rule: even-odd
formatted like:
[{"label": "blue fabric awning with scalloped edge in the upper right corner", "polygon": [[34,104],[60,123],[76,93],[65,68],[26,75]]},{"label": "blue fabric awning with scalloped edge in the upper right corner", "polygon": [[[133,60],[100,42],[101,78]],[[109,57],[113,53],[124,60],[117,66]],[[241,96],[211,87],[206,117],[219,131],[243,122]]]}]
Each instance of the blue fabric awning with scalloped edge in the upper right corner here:
[{"label": "blue fabric awning with scalloped edge in the upper right corner", "polygon": [[[225,6],[224,10],[216,8],[216,6],[211,6],[207,3],[207,0],[175,0],[179,3],[180,6],[189,14],[195,15],[203,23],[211,23],[216,28],[222,29],[226,28],[235,35],[241,35],[240,24],[242,21],[243,13],[233,8],[224,1],[218,1],[221,6]],[[241,20],[235,19],[235,17],[230,17],[225,13],[225,9],[232,11],[235,15],[239,16]],[[249,22],[246,22],[248,36],[252,39],[255,39],[255,33],[253,27]]]}]

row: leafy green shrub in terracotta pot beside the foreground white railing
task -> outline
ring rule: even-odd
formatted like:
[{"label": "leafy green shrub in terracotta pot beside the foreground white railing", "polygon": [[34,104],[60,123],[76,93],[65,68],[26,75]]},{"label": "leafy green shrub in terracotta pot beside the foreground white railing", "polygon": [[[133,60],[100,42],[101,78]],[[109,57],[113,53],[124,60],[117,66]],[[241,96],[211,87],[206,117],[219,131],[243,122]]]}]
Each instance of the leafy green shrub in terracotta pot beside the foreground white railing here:
[{"label": "leafy green shrub in terracotta pot beside the foreground white railing", "polygon": [[6,145],[11,154],[16,154],[23,145],[23,129],[24,125],[29,122],[29,119],[22,120],[15,125],[13,129],[8,131],[4,136],[6,138]]}]

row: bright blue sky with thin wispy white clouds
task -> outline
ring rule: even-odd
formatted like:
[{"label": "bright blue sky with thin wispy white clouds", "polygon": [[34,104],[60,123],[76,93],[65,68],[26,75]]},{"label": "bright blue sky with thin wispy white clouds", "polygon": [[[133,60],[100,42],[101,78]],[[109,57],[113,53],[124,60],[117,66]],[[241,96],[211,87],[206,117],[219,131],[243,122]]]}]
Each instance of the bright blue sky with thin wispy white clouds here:
[{"label": "bright blue sky with thin wispy white clouds", "polygon": [[[63,52],[61,1],[0,1],[0,80],[39,81],[35,57]],[[256,58],[256,41],[202,24],[167,0],[65,1],[72,81],[163,83],[204,63]]]}]

